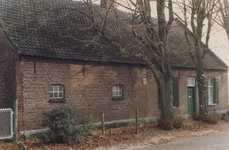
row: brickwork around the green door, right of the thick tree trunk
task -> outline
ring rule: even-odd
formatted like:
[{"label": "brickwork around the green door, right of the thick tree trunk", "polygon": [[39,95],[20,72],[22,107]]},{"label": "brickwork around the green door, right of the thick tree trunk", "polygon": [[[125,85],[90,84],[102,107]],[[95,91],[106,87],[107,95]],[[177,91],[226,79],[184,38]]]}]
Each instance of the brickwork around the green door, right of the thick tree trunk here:
[{"label": "brickwork around the green door, right of the thick tree trunk", "polygon": [[[188,101],[187,101],[187,77],[196,77],[196,71],[194,69],[176,69],[173,70],[173,74],[179,79],[179,98],[180,105],[174,109],[175,114],[187,114],[188,113]],[[213,71],[205,70],[206,77],[214,77],[219,80],[219,104],[216,106],[208,106],[209,111],[226,110],[228,107],[228,75],[226,71]],[[197,84],[197,82],[196,82]],[[199,112],[199,98],[198,88],[196,87],[196,104],[197,112]]]}]

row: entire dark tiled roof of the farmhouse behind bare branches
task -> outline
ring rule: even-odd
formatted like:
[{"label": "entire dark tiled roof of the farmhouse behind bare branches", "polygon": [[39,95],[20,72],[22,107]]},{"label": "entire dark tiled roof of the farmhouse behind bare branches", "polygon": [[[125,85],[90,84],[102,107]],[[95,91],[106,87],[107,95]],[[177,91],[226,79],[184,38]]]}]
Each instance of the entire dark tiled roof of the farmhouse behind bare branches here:
[{"label": "entire dark tiled roof of the farmhouse behind bare branches", "polygon": [[[21,55],[60,59],[144,64],[120,54],[104,39],[98,39],[91,30],[88,7],[80,2],[64,0],[1,1],[0,18],[16,40]],[[53,9],[55,8],[55,9]],[[97,21],[102,24],[105,9],[94,5]],[[132,51],[144,52],[144,47],[131,31],[131,15],[118,11],[121,27],[121,45]],[[118,40],[116,16],[109,13],[107,33]],[[170,33],[172,67],[195,68],[187,53],[182,25],[174,22]],[[144,31],[143,31],[144,32]],[[94,40],[93,40],[94,39]],[[182,56],[182,57],[181,57]],[[227,66],[213,52],[206,56],[206,68],[227,70]]]}]

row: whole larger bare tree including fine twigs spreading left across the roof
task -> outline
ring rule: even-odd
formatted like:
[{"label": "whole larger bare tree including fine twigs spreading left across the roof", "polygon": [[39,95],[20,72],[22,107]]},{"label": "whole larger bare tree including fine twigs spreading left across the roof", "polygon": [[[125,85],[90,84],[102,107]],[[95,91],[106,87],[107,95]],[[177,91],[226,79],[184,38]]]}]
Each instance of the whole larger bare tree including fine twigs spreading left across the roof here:
[{"label": "whole larger bare tree including fine twigs spreading left across the roof", "polygon": [[[100,40],[103,39],[113,45],[113,47],[115,47],[119,51],[119,53],[143,61],[147,65],[147,67],[153,72],[153,75],[155,76],[158,84],[158,89],[160,93],[159,97],[161,101],[161,117],[172,117],[173,81],[169,62],[170,47],[168,44],[169,30],[174,20],[172,0],[155,1],[157,8],[156,19],[152,19],[150,15],[151,10],[153,9],[150,7],[150,0],[128,0],[127,2],[128,4],[130,4],[129,6],[124,6],[114,0],[107,0],[105,2],[105,5],[108,5],[108,7],[103,9],[98,8],[100,6],[94,5],[91,0],[85,0],[84,5],[81,5],[79,7],[76,7],[75,5],[71,6],[71,3],[69,3],[68,6],[60,5],[59,7],[58,5],[53,5],[52,7],[52,4],[48,4],[49,2],[53,3],[55,0],[38,0],[36,1],[36,4],[27,4],[24,0],[18,1],[20,1],[20,3],[23,3],[23,5],[16,5],[14,10],[20,11],[20,13],[11,14],[13,19],[21,18],[21,20],[23,20],[22,24],[28,24],[28,26],[26,26],[28,38],[24,40],[34,40],[36,42],[37,38],[33,35],[36,34],[36,30],[41,30],[43,26],[46,26],[46,21],[51,20],[64,22],[65,20],[63,18],[65,18],[66,16],[74,17],[74,13],[80,13],[81,17],[75,16],[74,18],[76,20],[79,20],[77,26],[81,26],[82,30],[86,29],[88,32],[93,32],[93,39],[91,39],[90,41],[83,41],[81,39],[75,38],[74,34],[77,33],[74,33],[74,29],[72,29],[71,27],[74,25],[71,21],[68,25],[63,24],[63,26],[66,26],[66,33],[60,33],[61,36],[65,38],[74,38],[76,41],[80,42],[83,41],[84,43],[86,43],[85,45],[87,47],[90,46],[90,43],[93,43],[95,46],[97,46],[99,45]],[[66,0],[56,1],[62,3]],[[11,1],[9,1],[9,3],[10,2]],[[114,4],[122,5],[131,12],[131,14],[126,13],[126,16],[128,16],[127,20],[125,20],[125,18],[122,18],[122,13],[120,13],[120,11],[115,8]],[[165,9],[167,9],[166,7],[168,7],[169,10],[168,21],[166,21],[165,18]],[[34,9],[37,9],[38,11],[35,11]],[[30,12],[28,10],[32,11]],[[70,12],[73,13],[68,15],[68,13]],[[15,16],[17,14],[19,16]],[[9,14],[6,15],[9,16]],[[88,24],[89,22],[80,24],[80,19],[90,20],[90,24]],[[110,22],[113,22],[114,24],[116,24],[116,26],[112,26],[113,28],[111,28],[109,26]],[[131,23],[129,24],[129,22]],[[50,30],[55,30],[55,28],[50,28]],[[43,36],[45,36],[46,34],[48,36],[48,32],[49,31],[45,31]],[[129,36],[123,34],[125,32],[128,32],[128,34],[130,33],[131,35]],[[91,35],[92,34],[90,33],[89,36]],[[123,38],[133,38],[133,40],[130,44],[123,43]],[[49,39],[43,38],[39,40]],[[135,42],[134,44],[133,41]],[[57,46],[60,45],[62,42],[63,41],[59,41]]]}]

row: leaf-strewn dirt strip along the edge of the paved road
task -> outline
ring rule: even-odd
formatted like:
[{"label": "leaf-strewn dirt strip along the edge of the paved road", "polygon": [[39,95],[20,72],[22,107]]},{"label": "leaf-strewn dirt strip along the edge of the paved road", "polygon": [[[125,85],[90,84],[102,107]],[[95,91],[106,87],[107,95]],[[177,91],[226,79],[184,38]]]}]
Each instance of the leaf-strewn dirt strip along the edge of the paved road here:
[{"label": "leaf-strewn dirt strip along the edge of the paved road", "polygon": [[[202,123],[201,123],[202,124]],[[95,150],[133,150],[139,149],[144,147],[149,147],[152,145],[158,144],[165,144],[180,140],[187,140],[193,137],[200,137],[208,134],[213,133],[220,133],[229,131],[229,123],[226,121],[218,121],[218,124],[211,125],[211,124],[202,124],[204,125],[203,128],[201,127],[194,127],[189,129],[179,129],[179,130],[171,130],[171,131],[159,131],[155,130],[155,136],[152,136],[144,141],[131,143],[131,144],[120,144],[111,147],[98,147]]]}]

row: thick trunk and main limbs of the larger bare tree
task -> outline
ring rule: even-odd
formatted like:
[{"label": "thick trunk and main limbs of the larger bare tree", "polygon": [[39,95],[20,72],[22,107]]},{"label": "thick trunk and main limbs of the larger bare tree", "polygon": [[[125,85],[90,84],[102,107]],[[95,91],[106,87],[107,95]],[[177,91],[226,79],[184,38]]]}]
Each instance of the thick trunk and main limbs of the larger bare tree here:
[{"label": "thick trunk and main limbs of the larger bare tree", "polygon": [[[129,55],[131,57],[138,58],[145,62],[148,68],[153,72],[160,93],[161,101],[161,117],[170,118],[173,115],[173,96],[172,96],[172,72],[169,65],[169,46],[168,36],[169,29],[174,20],[172,1],[168,1],[169,20],[166,22],[165,9],[166,0],[157,0],[157,22],[151,18],[150,0],[136,0],[136,2],[129,0],[130,6],[125,6],[132,13],[131,17],[131,30],[133,36],[140,41],[139,45],[142,45],[142,50],[128,49],[121,43],[121,34],[118,33],[117,38],[113,38],[107,30],[109,14],[117,14],[117,9],[113,7],[113,4],[120,4],[112,0],[106,15],[103,19],[102,25],[97,21],[96,14],[93,8],[91,0],[85,1],[89,6],[90,19],[93,22],[93,29],[99,37],[105,39],[107,42],[115,46],[122,54]],[[112,29],[116,31],[122,30],[119,25],[118,16],[116,15],[117,28]]]}]

